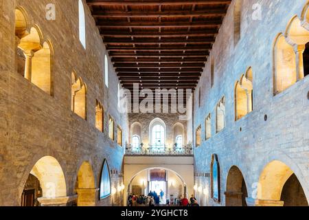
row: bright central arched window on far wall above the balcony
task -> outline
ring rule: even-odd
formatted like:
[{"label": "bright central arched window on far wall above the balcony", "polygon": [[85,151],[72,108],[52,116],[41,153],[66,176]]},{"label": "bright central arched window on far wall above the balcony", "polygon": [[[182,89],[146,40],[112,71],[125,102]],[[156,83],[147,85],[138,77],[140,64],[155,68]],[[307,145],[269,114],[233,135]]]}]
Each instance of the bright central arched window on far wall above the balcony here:
[{"label": "bright central arched window on far wall above the balcony", "polygon": [[155,148],[164,148],[165,146],[165,123],[156,118],[150,122],[150,144]]}]

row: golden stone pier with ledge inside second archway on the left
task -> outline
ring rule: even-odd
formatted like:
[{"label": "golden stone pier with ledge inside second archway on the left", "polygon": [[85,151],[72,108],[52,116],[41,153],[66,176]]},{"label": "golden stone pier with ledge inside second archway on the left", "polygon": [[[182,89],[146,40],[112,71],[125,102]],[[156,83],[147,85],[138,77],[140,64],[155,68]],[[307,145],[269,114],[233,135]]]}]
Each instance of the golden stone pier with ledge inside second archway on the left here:
[{"label": "golden stone pier with ledge inside second archway on the left", "polygon": [[98,191],[98,188],[77,188],[78,206],[95,206]]}]

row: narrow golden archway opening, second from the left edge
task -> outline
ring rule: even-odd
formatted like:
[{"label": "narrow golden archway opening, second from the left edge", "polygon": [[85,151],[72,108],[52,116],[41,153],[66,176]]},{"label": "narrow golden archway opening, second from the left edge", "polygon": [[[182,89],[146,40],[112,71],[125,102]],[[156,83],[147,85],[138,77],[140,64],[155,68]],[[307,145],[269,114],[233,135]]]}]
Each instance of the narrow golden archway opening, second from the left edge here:
[{"label": "narrow golden archway opening, second from the left edge", "polygon": [[78,194],[78,206],[95,206],[95,180],[93,170],[89,162],[83,162],[78,170],[76,179],[76,192]]}]

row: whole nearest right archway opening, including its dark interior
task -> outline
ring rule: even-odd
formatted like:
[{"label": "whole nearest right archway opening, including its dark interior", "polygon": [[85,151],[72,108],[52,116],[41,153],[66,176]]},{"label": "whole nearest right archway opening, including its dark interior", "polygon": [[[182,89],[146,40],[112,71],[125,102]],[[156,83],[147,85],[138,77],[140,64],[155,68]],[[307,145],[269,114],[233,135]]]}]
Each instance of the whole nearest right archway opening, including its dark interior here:
[{"label": "whole nearest right archway opening, including its dark interior", "polygon": [[267,164],[260,175],[258,199],[280,206],[308,206],[304,189],[293,170],[277,160]]}]

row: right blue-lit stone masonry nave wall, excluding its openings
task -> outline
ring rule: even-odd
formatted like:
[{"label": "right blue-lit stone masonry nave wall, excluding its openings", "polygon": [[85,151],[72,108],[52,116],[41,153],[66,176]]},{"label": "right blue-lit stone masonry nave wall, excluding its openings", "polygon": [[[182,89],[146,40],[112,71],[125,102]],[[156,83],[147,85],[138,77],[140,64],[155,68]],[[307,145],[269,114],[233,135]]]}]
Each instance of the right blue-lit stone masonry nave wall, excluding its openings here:
[{"label": "right blue-lit stone masonry nave wall, excluding its openings", "polygon": [[[198,88],[202,88],[202,107],[194,104],[194,129],[202,124],[203,142],[195,148],[195,172],[210,173],[211,155],[220,162],[220,203],[209,199],[211,206],[224,206],[229,168],[236,165],[242,171],[251,197],[253,183],[262,170],[277,159],[297,175],[309,199],[309,135],[307,94],[309,78],[273,96],[273,43],[285,32],[288,21],[301,16],[307,1],[249,0],[242,5],[242,30],[238,45],[233,46],[233,4],[228,10],[211,52],[215,58],[214,87],[210,88],[210,65],[207,63]],[[253,21],[253,4],[262,9],[262,20]],[[248,67],[253,68],[253,112],[235,122],[234,86]],[[196,89],[198,91],[198,89]],[[216,134],[216,104],[226,98],[226,127]],[[198,97],[196,92],[195,97]],[[205,141],[205,118],[211,113],[210,140]],[[264,121],[264,115],[268,120]],[[240,132],[240,128],[242,131]],[[194,134],[195,140],[195,134]],[[207,188],[209,178],[196,177],[196,184]],[[209,191],[210,192],[210,191]],[[202,203],[205,196],[202,195]]]}]

